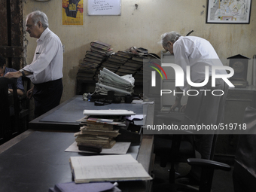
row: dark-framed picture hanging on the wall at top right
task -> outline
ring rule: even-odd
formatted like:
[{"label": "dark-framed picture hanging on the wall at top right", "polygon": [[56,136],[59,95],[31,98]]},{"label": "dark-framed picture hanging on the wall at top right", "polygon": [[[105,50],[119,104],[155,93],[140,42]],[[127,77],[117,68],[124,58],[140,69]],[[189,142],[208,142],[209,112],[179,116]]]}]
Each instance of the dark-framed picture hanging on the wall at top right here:
[{"label": "dark-framed picture hanging on the wall at top right", "polygon": [[251,0],[208,0],[206,23],[249,24]]}]

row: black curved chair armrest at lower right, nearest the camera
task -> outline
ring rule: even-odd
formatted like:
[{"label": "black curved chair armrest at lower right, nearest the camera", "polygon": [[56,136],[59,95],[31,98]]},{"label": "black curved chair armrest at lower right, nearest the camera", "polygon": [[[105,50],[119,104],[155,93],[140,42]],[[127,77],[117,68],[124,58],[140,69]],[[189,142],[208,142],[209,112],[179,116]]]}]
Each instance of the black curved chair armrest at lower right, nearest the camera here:
[{"label": "black curved chair armrest at lower right, nearest the camera", "polygon": [[213,169],[221,169],[224,171],[230,171],[231,167],[226,163],[221,163],[215,160],[204,160],[199,158],[189,158],[187,159],[187,163],[191,166],[201,166],[201,167],[209,167]]}]

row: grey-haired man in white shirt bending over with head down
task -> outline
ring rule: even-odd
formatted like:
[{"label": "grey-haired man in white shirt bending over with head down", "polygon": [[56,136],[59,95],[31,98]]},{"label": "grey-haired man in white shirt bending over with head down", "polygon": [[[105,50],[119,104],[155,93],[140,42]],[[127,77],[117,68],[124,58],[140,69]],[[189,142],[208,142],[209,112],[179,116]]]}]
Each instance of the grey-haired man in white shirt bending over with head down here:
[{"label": "grey-haired man in white shirt bending over with head down", "polygon": [[[197,90],[199,94],[188,96],[187,105],[181,107],[185,114],[185,124],[204,124],[218,125],[224,117],[224,102],[227,96],[228,85],[223,79],[217,78],[215,87],[212,87],[212,66],[223,67],[212,44],[206,39],[194,36],[181,36],[178,32],[166,32],[161,36],[163,48],[169,53],[174,54],[175,64],[181,67],[184,72],[184,87],[176,87],[175,103],[171,110],[181,105],[181,97],[187,90]],[[190,87],[187,82],[187,66],[190,66],[190,81],[202,83],[206,80],[207,84],[203,87]],[[206,67],[207,66],[207,67]],[[209,78],[206,78],[206,69],[209,68]],[[217,75],[227,75],[225,70],[216,70]],[[202,92],[200,90],[207,90]],[[213,95],[212,91],[218,90],[218,96]],[[217,92],[216,92],[217,93]],[[192,94],[192,93],[191,93]],[[212,159],[212,141],[214,130],[209,130],[194,135],[195,147],[200,152],[203,159]],[[191,169],[189,176],[199,179],[199,172]],[[191,178],[191,177],[190,177]]]}]

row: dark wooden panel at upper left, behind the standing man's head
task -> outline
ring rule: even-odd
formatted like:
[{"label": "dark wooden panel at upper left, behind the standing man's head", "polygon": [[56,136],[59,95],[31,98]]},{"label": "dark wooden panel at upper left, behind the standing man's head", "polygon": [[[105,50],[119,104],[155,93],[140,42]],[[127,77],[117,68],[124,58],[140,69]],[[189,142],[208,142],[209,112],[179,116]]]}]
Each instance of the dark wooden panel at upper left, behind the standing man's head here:
[{"label": "dark wooden panel at upper left, behind the standing man's head", "polygon": [[0,53],[7,58],[7,66],[23,68],[23,2],[0,2]]}]

